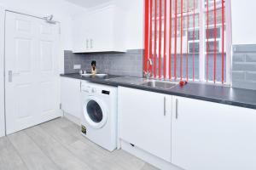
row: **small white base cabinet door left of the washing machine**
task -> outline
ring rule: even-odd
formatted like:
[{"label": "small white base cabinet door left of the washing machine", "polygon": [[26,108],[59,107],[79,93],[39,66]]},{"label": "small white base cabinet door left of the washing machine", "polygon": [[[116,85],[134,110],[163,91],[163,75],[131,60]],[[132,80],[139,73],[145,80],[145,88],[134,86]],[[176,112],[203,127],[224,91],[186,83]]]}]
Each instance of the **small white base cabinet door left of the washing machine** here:
[{"label": "small white base cabinet door left of the washing machine", "polygon": [[80,80],[61,77],[61,107],[62,111],[80,118],[82,112]]}]

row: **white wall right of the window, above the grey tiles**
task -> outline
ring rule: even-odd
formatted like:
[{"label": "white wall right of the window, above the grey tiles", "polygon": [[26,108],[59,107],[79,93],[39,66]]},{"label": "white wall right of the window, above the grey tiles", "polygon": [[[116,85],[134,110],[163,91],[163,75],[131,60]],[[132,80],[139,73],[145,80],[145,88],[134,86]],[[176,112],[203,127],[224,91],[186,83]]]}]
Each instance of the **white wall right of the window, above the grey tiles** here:
[{"label": "white wall right of the window, above the grey tiles", "polygon": [[255,0],[232,0],[232,44],[256,44]]}]

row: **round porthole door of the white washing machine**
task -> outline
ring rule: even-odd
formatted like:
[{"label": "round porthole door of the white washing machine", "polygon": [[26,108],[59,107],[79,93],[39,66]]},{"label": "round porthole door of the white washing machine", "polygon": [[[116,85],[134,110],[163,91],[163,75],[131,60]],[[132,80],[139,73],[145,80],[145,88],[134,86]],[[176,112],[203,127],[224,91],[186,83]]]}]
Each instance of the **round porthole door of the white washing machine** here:
[{"label": "round porthole door of the white washing machine", "polygon": [[85,100],[84,118],[90,127],[101,128],[106,124],[108,113],[101,99],[90,96]]}]

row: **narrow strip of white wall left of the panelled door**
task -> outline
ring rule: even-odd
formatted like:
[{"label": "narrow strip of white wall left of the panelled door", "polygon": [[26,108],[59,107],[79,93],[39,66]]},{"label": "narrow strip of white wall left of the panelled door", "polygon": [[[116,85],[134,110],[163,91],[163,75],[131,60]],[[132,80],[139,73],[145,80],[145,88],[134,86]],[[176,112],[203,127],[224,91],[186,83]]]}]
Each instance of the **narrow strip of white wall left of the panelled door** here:
[{"label": "narrow strip of white wall left of the panelled door", "polygon": [[[4,10],[0,6],[0,37],[4,34]],[[4,136],[4,91],[3,91],[3,38],[0,38],[0,137]]]}]

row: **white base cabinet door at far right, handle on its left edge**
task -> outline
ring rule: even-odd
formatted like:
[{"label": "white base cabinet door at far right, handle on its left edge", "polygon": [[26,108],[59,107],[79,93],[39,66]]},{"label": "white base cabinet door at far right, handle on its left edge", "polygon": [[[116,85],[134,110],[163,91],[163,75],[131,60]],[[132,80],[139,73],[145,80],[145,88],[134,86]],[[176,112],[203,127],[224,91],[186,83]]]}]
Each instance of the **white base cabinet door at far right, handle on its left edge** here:
[{"label": "white base cabinet door at far right, handle on its left edge", "polygon": [[256,111],[173,97],[172,163],[186,170],[256,169]]}]

